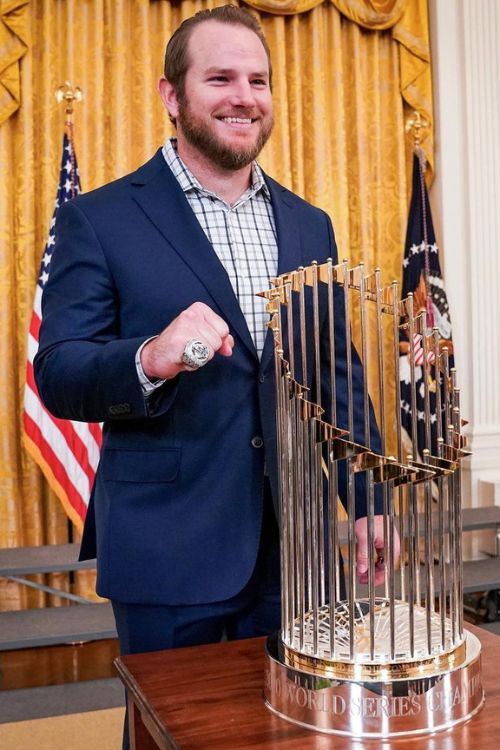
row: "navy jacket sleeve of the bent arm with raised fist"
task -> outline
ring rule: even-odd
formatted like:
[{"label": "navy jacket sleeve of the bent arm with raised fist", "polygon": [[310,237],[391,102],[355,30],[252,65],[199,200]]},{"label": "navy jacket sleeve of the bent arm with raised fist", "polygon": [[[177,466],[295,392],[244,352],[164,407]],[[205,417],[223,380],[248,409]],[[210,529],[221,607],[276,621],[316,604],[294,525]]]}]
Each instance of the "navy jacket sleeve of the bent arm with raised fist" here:
[{"label": "navy jacket sleeve of the bent arm with raised fist", "polygon": [[[98,237],[79,206],[58,211],[56,246],[42,296],[36,384],[57,417],[101,422],[168,410],[176,380],[143,393],[135,354],[148,335],[120,337],[119,293]],[[150,334],[151,335],[151,334]]]}]

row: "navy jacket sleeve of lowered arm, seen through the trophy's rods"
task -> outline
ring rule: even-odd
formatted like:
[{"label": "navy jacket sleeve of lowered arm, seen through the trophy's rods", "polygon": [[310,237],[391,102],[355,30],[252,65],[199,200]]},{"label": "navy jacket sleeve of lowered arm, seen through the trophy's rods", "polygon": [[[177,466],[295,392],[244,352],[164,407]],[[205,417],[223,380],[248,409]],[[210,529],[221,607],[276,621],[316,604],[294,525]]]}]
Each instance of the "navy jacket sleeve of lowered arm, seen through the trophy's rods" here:
[{"label": "navy jacket sleeve of lowered arm, seen through the trophy's rods", "polygon": [[[331,257],[334,264],[338,262],[337,248],[335,244],[335,237],[333,233],[333,226],[330,218],[327,216],[328,233],[330,239]],[[348,403],[348,379],[347,379],[347,339],[345,335],[345,297],[343,290],[335,286],[334,289],[334,331],[335,331],[335,383],[336,383],[336,415],[335,415],[335,426],[341,427],[342,429],[348,429],[349,427],[349,403]],[[331,404],[330,392],[330,354],[328,345],[328,335],[322,337],[323,351],[322,361],[327,364],[327,367],[323,371],[323,383],[322,392],[326,394],[324,403],[326,405]],[[356,443],[361,445],[366,444],[365,440],[365,410],[363,402],[363,388],[364,388],[364,371],[360,357],[354,344],[351,343],[350,348],[351,358],[351,373],[352,373],[352,393],[353,393],[353,404],[352,404],[352,422],[353,422],[353,437]],[[326,418],[328,421],[332,420],[331,406],[327,406]],[[380,433],[377,427],[375,419],[375,413],[371,400],[368,404],[368,416],[370,425],[370,447],[376,453],[381,451],[381,440]],[[337,462],[338,469],[338,489],[340,499],[344,507],[347,506],[347,460]],[[365,472],[357,473],[355,475],[355,512],[356,518],[361,518],[367,514],[367,482]],[[375,490],[375,513],[379,514],[383,511],[383,495],[382,489],[378,486]]]}]

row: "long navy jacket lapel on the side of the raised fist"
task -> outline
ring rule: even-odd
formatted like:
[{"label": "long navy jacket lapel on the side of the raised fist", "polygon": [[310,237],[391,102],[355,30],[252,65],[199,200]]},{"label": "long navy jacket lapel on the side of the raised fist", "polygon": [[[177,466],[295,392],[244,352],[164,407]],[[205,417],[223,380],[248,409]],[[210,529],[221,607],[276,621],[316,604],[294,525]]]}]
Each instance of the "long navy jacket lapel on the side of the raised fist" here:
[{"label": "long navy jacket lapel on the side of the raised fist", "polygon": [[245,317],[222,263],[161,151],[132,177],[133,198],[205,286],[232,333],[256,356]]}]

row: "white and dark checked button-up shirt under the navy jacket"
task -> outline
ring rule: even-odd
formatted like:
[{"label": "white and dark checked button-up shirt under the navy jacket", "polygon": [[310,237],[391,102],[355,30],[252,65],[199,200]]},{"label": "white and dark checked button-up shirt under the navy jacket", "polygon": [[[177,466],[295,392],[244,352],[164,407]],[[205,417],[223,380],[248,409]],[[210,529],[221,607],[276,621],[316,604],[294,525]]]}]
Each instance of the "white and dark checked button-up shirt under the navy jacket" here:
[{"label": "white and dark checked button-up shirt under the navy jacket", "polygon": [[229,276],[260,356],[269,314],[266,300],[256,295],[269,288],[278,269],[276,226],[262,171],[254,162],[252,184],[230,206],[200,185],[177,154],[175,138],[166,142],[163,156]]}]

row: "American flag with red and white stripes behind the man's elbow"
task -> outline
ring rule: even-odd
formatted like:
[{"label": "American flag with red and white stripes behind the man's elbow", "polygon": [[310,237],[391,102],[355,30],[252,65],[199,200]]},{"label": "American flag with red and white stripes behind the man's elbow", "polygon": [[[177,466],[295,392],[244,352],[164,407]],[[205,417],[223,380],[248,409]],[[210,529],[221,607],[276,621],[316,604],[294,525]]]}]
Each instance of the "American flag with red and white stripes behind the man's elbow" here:
[{"label": "American flag with red and white stripes behind the man's elbow", "polygon": [[42,404],[33,376],[33,359],[38,351],[42,296],[49,278],[54,250],[57,209],[80,192],[80,178],[71,137],[71,126],[64,134],[59,187],[50,222],[49,236],[40,265],[33,314],[28,332],[26,385],[24,389],[24,444],[61,500],[66,513],[81,529],[94,483],[101,426],[56,419]]}]

